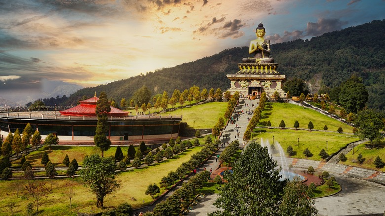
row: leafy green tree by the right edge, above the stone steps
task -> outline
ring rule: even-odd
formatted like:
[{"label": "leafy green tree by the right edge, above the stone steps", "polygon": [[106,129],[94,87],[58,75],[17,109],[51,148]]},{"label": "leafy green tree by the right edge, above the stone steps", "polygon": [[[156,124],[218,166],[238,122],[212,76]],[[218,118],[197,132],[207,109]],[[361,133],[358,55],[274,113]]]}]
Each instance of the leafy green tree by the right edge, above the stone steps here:
[{"label": "leafy green tree by the right edge, above the stone steps", "polygon": [[380,130],[384,127],[382,116],[378,112],[371,109],[363,109],[358,112],[358,117],[354,121],[360,138],[367,138],[370,144],[373,141],[384,139]]}]

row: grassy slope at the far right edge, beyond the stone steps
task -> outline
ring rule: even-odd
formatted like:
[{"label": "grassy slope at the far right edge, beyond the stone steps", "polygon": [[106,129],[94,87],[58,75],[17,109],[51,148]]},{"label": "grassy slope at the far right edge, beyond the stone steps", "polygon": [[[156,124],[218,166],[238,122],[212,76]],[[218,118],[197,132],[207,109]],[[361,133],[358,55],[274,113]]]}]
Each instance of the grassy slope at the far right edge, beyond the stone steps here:
[{"label": "grassy slope at the far right edge, beyond the stone steps", "polygon": [[[373,162],[376,159],[377,156],[379,156],[382,161],[385,163],[385,141],[380,142],[378,144],[379,148],[373,148],[373,149],[367,149],[365,148],[365,144],[359,144],[358,146],[354,147],[354,155],[353,151],[350,151],[348,154],[346,154],[347,160],[345,162],[340,161],[340,164],[345,164],[348,166],[355,166],[355,167],[362,167],[366,169],[372,169],[372,170],[380,170],[382,172],[385,172],[385,167],[378,169],[374,166]],[[359,164],[357,162],[358,154],[362,154],[362,158],[364,158],[364,162],[362,164]]]}]

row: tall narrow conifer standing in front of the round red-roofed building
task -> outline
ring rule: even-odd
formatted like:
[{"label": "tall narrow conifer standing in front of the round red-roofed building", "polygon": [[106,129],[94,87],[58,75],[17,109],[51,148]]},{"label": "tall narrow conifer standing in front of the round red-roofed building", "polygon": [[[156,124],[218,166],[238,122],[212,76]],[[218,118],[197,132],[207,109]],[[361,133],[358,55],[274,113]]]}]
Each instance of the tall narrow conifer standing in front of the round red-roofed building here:
[{"label": "tall narrow conifer standing in front of the round red-roofed building", "polygon": [[102,152],[110,149],[111,141],[106,137],[108,132],[107,113],[111,111],[110,103],[107,100],[105,92],[101,92],[99,100],[96,102],[95,113],[98,117],[98,123],[96,125],[96,131],[94,136],[94,143]]}]

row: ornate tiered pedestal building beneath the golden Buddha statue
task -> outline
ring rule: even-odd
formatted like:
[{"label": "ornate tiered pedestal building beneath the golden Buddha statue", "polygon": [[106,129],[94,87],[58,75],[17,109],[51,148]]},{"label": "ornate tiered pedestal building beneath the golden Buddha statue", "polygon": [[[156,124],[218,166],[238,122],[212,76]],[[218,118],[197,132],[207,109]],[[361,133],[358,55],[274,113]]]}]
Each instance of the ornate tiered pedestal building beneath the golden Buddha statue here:
[{"label": "ornate tiered pedestal building beneath the golden Buddha statue", "polygon": [[280,98],[286,98],[282,90],[282,84],[286,81],[285,75],[280,75],[275,63],[239,63],[240,71],[229,74],[226,77],[230,80],[230,94],[236,91],[243,97],[258,99],[262,92],[266,93],[268,99],[274,99],[275,91]]}]

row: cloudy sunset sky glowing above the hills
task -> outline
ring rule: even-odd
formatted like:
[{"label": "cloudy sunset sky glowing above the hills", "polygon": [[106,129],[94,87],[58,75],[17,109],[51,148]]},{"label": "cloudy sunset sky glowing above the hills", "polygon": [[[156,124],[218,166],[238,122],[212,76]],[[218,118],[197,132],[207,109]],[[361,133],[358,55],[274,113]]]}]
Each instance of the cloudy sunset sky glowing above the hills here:
[{"label": "cloudy sunset sky glowing above the hills", "polygon": [[385,0],[0,0],[0,97],[44,78],[96,86],[247,46],[260,22],[279,43],[384,11]]}]

